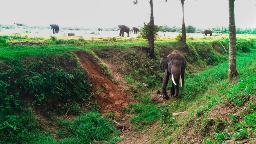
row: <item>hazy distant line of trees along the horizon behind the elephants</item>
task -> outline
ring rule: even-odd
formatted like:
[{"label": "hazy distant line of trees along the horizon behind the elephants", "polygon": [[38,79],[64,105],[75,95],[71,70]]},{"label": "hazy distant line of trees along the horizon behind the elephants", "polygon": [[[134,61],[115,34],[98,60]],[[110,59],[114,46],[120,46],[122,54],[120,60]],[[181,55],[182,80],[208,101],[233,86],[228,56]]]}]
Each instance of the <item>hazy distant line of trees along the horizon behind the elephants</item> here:
[{"label": "hazy distant line of trees along the horizon behind the elephants", "polygon": [[[2,25],[0,24],[0,28],[2,29],[14,29],[14,25]],[[50,29],[51,27],[42,27],[42,26],[28,26],[26,24],[23,25],[24,29]],[[80,28],[80,27],[61,27],[61,29],[70,29],[70,30],[94,30],[90,28]],[[222,29],[222,28],[221,28]],[[220,29],[220,30],[221,30]],[[112,27],[112,28],[105,28],[103,29],[104,31],[119,31],[118,27]],[[169,27],[167,25],[160,26],[161,31],[166,31],[166,32],[178,32],[182,33],[182,28],[181,27]],[[212,28],[211,29],[213,33],[217,32],[217,28]],[[189,25],[186,27],[186,33],[202,33],[204,29],[196,29],[195,27]],[[223,27],[223,33],[229,33],[229,28],[228,27]],[[241,29],[241,28],[236,28],[236,34],[256,34],[256,28],[255,29]]]}]

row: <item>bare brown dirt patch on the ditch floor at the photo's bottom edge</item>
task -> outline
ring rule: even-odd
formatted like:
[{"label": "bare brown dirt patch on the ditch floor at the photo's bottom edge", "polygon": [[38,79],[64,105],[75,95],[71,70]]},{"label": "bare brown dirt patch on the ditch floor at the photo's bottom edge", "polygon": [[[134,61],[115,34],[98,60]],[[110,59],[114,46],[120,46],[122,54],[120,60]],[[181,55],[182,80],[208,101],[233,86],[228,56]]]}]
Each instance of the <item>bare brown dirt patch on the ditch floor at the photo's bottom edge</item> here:
[{"label": "bare brown dirt patch on the ditch floor at the photo's bottom edge", "polygon": [[151,144],[152,137],[155,135],[154,129],[157,125],[159,125],[158,122],[144,131],[132,131],[131,129],[127,129],[120,136],[120,138],[124,138],[124,140],[117,144]]}]

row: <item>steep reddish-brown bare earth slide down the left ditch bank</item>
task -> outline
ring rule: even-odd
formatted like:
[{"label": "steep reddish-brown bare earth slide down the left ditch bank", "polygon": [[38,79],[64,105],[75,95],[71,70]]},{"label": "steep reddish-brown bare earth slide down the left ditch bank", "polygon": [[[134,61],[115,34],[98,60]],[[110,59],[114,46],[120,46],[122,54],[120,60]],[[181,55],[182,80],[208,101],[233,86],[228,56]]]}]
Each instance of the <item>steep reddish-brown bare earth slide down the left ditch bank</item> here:
[{"label": "steep reddish-brown bare earth slide down the left ditch bank", "polygon": [[74,53],[79,58],[83,69],[88,71],[87,75],[92,79],[94,91],[103,89],[101,93],[92,96],[101,106],[103,113],[119,112],[125,106],[128,106],[130,95],[121,91],[116,84],[100,72],[99,65],[92,56],[85,51],[74,51]]}]

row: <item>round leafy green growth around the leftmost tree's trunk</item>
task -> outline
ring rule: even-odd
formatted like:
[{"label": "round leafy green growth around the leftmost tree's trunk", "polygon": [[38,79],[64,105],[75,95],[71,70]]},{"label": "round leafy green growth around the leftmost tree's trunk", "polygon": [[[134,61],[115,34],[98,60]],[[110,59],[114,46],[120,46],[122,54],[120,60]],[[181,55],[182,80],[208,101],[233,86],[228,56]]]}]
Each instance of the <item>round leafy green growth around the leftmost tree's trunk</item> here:
[{"label": "round leafy green growth around the leftmost tree's trunk", "polygon": [[154,38],[157,37],[157,33],[160,31],[160,27],[157,26],[157,25],[154,25],[153,28],[150,28],[151,26],[149,24],[147,25],[144,25],[143,27],[140,28],[140,33],[139,35],[141,35],[142,38],[148,40],[148,31],[150,30],[153,30],[153,35],[154,35]]}]

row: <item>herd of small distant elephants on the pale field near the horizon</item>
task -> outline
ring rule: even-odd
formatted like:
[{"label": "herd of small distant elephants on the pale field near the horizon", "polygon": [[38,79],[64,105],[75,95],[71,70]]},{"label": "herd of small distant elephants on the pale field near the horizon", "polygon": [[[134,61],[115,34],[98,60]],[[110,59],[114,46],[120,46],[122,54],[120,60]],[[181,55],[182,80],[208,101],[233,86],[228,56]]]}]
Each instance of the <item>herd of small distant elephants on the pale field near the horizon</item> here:
[{"label": "herd of small distant elephants on the pale field near the horizon", "polygon": [[[60,27],[58,26],[58,24],[51,24],[50,27],[51,27],[53,33],[58,33],[58,31],[60,30]],[[132,27],[132,29],[130,29],[130,27],[128,27],[126,25],[118,25],[118,28],[120,29],[119,36],[122,36],[122,37],[124,37],[125,32],[128,34],[127,35],[128,37],[130,37],[129,33],[139,34],[139,29],[137,27]],[[103,29],[98,28],[98,31],[103,31]],[[166,30],[162,30],[162,32],[165,33]],[[207,36],[207,34],[209,34],[211,36],[212,31],[211,30],[204,30],[202,34],[205,35],[205,36]]]}]

